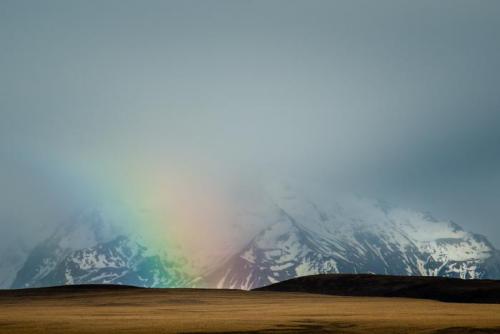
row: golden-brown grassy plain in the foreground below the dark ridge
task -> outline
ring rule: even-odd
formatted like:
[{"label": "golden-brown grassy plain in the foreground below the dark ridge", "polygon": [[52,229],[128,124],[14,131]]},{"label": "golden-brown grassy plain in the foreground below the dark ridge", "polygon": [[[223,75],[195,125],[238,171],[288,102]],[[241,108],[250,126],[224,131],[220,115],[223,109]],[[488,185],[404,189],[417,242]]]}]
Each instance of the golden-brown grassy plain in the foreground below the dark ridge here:
[{"label": "golden-brown grassy plain in the foreground below the dark ridge", "polygon": [[500,333],[500,305],[236,290],[0,292],[0,333]]}]

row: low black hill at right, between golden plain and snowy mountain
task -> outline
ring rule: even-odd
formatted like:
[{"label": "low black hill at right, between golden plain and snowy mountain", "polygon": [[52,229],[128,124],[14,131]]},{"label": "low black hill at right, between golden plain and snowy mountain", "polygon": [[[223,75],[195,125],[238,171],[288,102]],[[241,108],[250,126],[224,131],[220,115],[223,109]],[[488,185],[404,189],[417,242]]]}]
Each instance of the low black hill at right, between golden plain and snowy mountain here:
[{"label": "low black hill at right, between golden plain and snowy mountain", "polygon": [[324,274],[298,277],[254,291],[422,298],[456,303],[500,303],[500,281],[443,277]]}]

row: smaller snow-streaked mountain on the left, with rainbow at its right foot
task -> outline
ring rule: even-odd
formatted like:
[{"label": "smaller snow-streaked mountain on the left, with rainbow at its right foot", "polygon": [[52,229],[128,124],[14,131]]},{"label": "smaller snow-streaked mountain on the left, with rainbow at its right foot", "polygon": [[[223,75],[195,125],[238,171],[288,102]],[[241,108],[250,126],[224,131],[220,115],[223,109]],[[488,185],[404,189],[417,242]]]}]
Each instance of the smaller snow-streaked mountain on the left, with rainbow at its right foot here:
[{"label": "smaller snow-streaked mountain on the left, with rainbow at its right foot", "polygon": [[99,210],[87,210],[35,247],[12,288],[64,284],[185,287],[193,278],[185,260],[148,249],[140,237],[122,235]]}]

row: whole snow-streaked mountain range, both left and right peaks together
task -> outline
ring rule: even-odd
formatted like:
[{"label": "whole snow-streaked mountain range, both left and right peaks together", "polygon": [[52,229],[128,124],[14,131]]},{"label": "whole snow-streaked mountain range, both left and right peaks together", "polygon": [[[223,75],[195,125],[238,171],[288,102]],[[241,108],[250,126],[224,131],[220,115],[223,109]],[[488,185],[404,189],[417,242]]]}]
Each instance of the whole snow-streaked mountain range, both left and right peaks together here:
[{"label": "whole snow-streaked mountain range, both left and right peaks together", "polygon": [[[182,245],[153,247],[140,233],[120,230],[106,212],[84,210],[11,263],[2,287],[112,283],[252,289],[317,273],[500,279],[500,253],[486,237],[427,213],[355,196],[306,195],[290,187],[272,189],[264,201],[265,209],[247,208],[251,214],[243,220],[249,225],[255,220],[256,235],[245,232],[246,241],[222,254],[205,249],[209,266],[183,252]],[[2,273],[8,271],[0,265]]]}]

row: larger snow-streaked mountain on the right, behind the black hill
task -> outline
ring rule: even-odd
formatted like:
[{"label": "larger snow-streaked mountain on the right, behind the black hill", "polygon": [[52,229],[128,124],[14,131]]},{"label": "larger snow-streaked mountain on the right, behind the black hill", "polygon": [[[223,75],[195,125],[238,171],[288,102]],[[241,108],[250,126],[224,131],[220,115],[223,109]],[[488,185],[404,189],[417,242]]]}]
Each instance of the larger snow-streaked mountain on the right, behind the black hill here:
[{"label": "larger snow-streaked mountain on the right, behind the black hill", "polygon": [[500,278],[488,240],[421,212],[378,201],[273,198],[279,219],[210,273],[208,286],[252,289],[317,273]]}]

